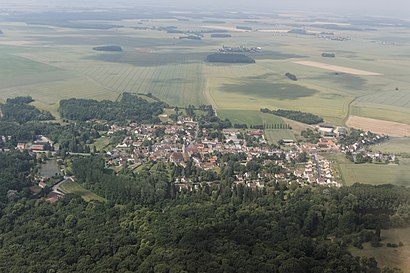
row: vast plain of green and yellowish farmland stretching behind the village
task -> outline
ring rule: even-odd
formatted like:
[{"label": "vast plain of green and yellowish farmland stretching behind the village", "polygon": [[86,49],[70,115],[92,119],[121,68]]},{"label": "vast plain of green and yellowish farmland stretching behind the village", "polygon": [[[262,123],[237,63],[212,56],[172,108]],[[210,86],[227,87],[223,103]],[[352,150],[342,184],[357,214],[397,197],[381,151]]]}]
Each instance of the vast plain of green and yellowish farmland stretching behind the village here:
[{"label": "vast plain of green and yellowish farmland stretching behind the village", "polygon": [[[50,26],[6,21],[0,40],[0,100],[30,94],[36,106],[57,115],[60,99],[116,99],[127,91],[152,93],[172,106],[212,104],[233,123],[266,122],[256,113],[260,108],[304,111],[337,125],[350,115],[410,123],[409,29],[392,32],[377,26],[377,32],[360,35],[338,30],[335,35],[348,39],[333,41],[286,33],[295,24],[305,24],[312,33],[323,30],[321,24],[306,23],[309,20],[298,18],[297,23],[291,15],[251,22],[215,16],[205,21],[177,16],[116,19],[98,24],[122,28],[94,30],[56,26],[53,21]],[[337,26],[354,26],[341,18],[328,19]],[[249,30],[236,27],[243,25]],[[203,31],[203,37],[181,40],[164,31],[170,26]],[[231,37],[214,39],[207,31]],[[122,52],[92,50],[114,41]],[[262,51],[251,54],[255,64],[206,63],[206,56],[223,45]],[[323,52],[337,57],[324,63]],[[290,81],[286,73],[298,81]]]}]

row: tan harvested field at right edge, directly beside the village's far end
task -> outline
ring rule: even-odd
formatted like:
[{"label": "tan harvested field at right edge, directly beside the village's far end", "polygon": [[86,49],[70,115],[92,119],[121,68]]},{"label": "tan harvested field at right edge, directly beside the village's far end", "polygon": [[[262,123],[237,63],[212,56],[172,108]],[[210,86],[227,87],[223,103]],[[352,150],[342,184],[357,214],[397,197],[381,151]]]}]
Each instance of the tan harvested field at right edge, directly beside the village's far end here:
[{"label": "tan harvested field at right edge, directly beside the village's far end", "polygon": [[356,129],[368,130],[394,137],[410,136],[410,125],[358,116],[350,116],[346,125]]}]

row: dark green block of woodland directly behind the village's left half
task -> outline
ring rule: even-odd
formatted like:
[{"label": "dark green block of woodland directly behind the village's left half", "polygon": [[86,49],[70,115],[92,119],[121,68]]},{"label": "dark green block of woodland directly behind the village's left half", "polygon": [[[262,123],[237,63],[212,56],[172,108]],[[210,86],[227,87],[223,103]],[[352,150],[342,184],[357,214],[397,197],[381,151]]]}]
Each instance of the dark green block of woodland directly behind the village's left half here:
[{"label": "dark green block of woodland directly behind the village's left half", "polygon": [[124,122],[158,122],[163,112],[163,102],[148,102],[130,93],[123,93],[119,101],[68,99],[60,101],[61,116],[70,120],[107,120]]}]

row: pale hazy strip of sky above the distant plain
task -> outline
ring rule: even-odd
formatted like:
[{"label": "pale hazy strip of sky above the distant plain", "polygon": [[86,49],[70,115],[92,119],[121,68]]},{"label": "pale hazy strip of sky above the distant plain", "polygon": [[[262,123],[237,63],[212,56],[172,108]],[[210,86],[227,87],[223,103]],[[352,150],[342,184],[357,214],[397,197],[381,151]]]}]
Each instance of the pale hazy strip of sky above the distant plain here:
[{"label": "pale hazy strip of sky above the distant plain", "polygon": [[[29,4],[32,6],[107,7],[155,5],[181,8],[207,8],[229,10],[313,10],[319,12],[342,12],[343,14],[397,15],[410,19],[409,0],[0,0],[5,6]],[[340,15],[343,15],[340,14]]]}]

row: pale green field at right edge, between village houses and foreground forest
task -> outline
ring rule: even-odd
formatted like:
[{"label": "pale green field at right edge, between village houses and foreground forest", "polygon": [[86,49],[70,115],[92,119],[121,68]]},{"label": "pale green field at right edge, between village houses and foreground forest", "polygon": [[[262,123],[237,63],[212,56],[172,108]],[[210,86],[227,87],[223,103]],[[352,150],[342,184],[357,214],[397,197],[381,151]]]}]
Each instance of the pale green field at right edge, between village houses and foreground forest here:
[{"label": "pale green field at right edge, between village houses and foreground forest", "polygon": [[339,168],[347,186],[354,183],[410,186],[410,162],[406,159],[401,159],[400,165],[339,164]]}]

